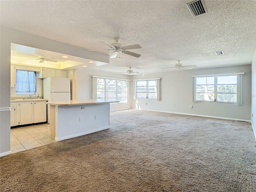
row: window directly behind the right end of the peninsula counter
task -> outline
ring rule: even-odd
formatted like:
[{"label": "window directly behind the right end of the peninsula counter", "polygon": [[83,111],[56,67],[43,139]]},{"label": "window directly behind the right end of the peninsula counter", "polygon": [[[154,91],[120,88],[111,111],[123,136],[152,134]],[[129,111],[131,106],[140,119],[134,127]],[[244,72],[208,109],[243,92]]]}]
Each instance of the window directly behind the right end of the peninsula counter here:
[{"label": "window directly behind the right end of the peninsula counter", "polygon": [[126,80],[110,78],[97,79],[97,99],[117,100],[127,102]]}]

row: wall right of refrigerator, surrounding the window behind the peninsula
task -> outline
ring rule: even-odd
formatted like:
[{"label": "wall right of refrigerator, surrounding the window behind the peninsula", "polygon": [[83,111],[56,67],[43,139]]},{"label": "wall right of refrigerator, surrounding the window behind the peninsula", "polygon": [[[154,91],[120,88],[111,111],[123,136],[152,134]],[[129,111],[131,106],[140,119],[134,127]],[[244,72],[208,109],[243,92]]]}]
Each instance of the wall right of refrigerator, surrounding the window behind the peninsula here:
[{"label": "wall right of refrigerator, surrounding the window behind the peninsula", "polygon": [[[98,66],[100,68],[100,66]],[[104,72],[99,70],[76,70],[76,100],[92,99],[92,76],[109,78],[120,78],[130,80],[130,76],[117,73]],[[129,93],[129,90],[128,90]],[[111,103],[110,111],[128,109],[131,106],[130,94],[127,103]]]}]

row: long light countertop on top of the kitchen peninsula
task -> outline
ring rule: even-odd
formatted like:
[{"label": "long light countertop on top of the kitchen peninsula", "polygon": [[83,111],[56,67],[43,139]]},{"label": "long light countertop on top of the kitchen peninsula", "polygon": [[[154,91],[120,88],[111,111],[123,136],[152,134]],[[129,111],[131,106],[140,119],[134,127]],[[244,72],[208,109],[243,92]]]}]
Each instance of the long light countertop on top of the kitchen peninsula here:
[{"label": "long light countertop on top of the kitchen peninsula", "polygon": [[86,99],[86,100],[47,102],[46,104],[56,105],[56,106],[72,106],[72,105],[90,105],[90,104],[118,103],[118,102],[119,101],[103,100],[103,99]]}]

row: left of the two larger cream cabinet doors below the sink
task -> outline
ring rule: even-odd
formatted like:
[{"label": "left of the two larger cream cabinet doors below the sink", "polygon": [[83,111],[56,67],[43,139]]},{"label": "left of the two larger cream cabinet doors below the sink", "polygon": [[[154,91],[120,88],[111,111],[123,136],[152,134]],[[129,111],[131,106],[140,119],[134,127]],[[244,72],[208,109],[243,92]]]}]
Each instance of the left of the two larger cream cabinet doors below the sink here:
[{"label": "left of the two larger cream cabinet doors below the sink", "polygon": [[20,125],[33,123],[32,102],[20,102]]}]

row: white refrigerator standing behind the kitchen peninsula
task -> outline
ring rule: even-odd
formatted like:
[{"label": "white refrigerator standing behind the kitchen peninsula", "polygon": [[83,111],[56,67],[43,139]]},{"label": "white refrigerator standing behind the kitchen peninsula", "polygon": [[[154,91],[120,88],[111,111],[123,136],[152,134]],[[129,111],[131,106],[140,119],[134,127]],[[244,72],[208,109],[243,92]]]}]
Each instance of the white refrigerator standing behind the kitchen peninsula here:
[{"label": "white refrigerator standing behind the kitchen peninsula", "polygon": [[[44,99],[48,102],[70,101],[70,78],[48,77],[43,80]],[[49,123],[49,105],[47,105],[47,122]]]}]

